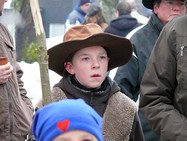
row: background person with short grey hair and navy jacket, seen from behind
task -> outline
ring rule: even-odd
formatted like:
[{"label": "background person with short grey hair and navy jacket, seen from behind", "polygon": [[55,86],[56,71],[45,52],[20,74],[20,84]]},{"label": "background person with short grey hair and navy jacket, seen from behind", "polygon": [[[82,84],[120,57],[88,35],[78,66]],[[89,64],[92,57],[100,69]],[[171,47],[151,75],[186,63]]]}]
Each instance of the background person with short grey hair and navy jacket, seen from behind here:
[{"label": "background person with short grey hair and navy jacket, seen from behind", "polygon": [[141,25],[130,15],[131,6],[128,2],[119,2],[116,10],[117,18],[110,22],[105,32],[125,37],[130,31]]}]

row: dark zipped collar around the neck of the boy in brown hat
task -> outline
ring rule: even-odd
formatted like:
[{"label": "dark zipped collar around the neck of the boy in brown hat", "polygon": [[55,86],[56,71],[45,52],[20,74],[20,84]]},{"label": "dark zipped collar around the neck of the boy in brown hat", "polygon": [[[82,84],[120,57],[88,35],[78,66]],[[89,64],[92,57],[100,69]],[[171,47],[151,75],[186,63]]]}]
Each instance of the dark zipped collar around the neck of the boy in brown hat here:
[{"label": "dark zipped collar around the neck of the boy in brown hat", "polygon": [[113,94],[120,91],[116,82],[112,81],[109,77],[106,77],[101,88],[95,90],[86,89],[75,81],[73,76],[67,76],[61,79],[54,87],[60,87],[70,99],[84,99],[85,102],[92,106],[101,116],[105,111],[108,99]]}]

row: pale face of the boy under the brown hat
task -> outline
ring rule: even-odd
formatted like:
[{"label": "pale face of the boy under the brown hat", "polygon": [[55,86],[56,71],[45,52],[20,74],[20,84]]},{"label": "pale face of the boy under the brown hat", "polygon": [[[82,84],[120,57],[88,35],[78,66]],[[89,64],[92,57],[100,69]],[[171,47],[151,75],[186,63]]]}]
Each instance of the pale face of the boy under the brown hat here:
[{"label": "pale face of the boy under the brown hat", "polygon": [[75,75],[83,86],[98,88],[106,78],[108,61],[107,52],[103,47],[87,47],[75,53],[72,63],[66,63],[66,70]]}]

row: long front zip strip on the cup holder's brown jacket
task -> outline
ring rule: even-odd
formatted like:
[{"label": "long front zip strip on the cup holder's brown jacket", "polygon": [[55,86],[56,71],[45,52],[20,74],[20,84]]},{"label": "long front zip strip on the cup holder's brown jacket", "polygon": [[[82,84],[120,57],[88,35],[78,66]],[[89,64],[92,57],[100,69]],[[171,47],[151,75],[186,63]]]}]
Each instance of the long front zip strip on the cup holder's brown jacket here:
[{"label": "long front zip strip on the cup holder's brown jacket", "polygon": [[6,88],[8,92],[8,103],[9,103],[9,115],[10,115],[10,141],[13,140],[13,113],[12,113],[12,98],[9,91],[8,83],[6,83]]}]

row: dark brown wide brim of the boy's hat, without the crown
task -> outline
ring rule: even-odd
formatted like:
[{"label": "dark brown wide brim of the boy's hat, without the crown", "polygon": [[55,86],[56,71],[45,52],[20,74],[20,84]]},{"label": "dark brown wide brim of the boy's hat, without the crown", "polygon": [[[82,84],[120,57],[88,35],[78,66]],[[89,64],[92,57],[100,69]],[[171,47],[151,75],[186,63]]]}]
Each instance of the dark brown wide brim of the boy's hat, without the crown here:
[{"label": "dark brown wide brim of the boy's hat, without the crown", "polygon": [[50,48],[47,51],[49,69],[63,76],[64,63],[68,56],[73,52],[91,46],[102,46],[110,50],[108,71],[126,64],[132,56],[132,44],[128,39],[108,33],[98,33],[83,40],[67,41]]}]

